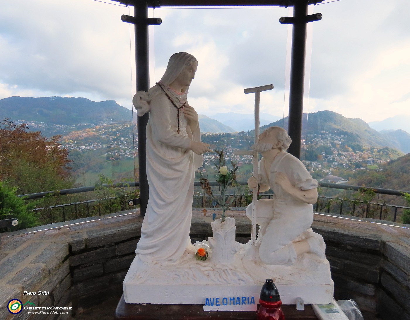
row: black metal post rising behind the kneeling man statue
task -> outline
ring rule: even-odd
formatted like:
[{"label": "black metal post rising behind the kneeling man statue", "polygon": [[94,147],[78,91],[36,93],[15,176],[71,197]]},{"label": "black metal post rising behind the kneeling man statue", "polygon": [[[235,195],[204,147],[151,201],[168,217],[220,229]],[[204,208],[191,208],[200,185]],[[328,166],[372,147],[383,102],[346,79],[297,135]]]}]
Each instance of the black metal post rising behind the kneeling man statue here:
[{"label": "black metal post rising behind the kneeling man statue", "polygon": [[289,88],[288,134],[292,143],[287,150],[301,158],[303,84],[305,81],[307,0],[295,1],[293,7],[292,58]]}]

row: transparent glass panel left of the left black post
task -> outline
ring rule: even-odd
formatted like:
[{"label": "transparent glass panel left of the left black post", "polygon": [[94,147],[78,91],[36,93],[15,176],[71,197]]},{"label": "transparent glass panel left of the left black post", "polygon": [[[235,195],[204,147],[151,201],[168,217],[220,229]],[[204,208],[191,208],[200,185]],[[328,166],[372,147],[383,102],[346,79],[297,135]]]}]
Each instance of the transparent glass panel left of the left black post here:
[{"label": "transparent glass panel left of the left black post", "polygon": [[[3,184],[17,194],[98,184],[98,191],[35,200],[46,207],[35,211],[39,224],[130,209],[135,188],[113,183],[135,181],[134,32],[120,18],[133,8],[82,0],[1,7],[0,120],[9,118],[0,137]],[[76,204],[54,207],[67,203]]]}]

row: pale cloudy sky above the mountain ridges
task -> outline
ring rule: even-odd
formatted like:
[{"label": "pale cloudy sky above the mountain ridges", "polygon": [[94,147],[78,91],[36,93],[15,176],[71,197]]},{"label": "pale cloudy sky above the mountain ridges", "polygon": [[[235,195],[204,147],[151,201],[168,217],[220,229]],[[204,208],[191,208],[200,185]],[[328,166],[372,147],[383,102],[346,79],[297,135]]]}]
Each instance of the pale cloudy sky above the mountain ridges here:
[{"label": "pale cloudy sky above the mountain ridges", "polygon": [[[134,34],[122,14],[133,8],[104,0],[13,0],[0,3],[0,99],[13,95],[116,100],[131,109]],[[328,0],[311,6],[305,112],[332,110],[377,121],[410,116],[410,2]],[[273,84],[261,111],[286,116],[290,27],[287,8],[150,10],[151,82],[171,54],[199,61],[189,90],[198,113],[253,113],[248,87]],[[311,54],[310,54],[311,53]]]}]

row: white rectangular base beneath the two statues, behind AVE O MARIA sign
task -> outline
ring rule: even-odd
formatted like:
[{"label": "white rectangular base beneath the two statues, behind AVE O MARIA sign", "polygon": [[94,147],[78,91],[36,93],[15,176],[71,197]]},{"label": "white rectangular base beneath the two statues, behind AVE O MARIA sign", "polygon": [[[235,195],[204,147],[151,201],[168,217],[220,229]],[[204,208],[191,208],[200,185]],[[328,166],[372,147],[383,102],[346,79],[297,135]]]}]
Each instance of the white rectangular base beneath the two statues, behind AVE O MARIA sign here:
[{"label": "white rectangular base beneath the two statues, behind AVE O MARIA sign", "polygon": [[[239,250],[230,263],[214,259],[214,252],[206,261],[198,261],[192,253],[185,252],[174,263],[142,261],[136,256],[123,282],[125,302],[205,304],[207,298],[219,298],[220,302],[235,298],[237,302],[239,297],[242,304],[253,297],[257,303],[267,278],[273,279],[283,304],[295,304],[298,297],[305,304],[333,301],[333,281],[327,260],[306,253],[292,266],[268,266],[245,258],[250,244],[237,245]],[[227,300],[223,300],[224,297]]]}]

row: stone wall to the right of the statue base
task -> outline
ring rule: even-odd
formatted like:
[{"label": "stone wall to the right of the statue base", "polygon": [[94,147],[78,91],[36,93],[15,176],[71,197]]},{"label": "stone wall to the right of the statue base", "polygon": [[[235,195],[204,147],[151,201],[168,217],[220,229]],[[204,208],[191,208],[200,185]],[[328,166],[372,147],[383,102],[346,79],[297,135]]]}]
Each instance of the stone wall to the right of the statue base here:
[{"label": "stone wall to the right of the statue base", "polygon": [[326,242],[335,299],[353,299],[385,320],[410,320],[410,226],[346,218],[315,215],[312,225]]}]

